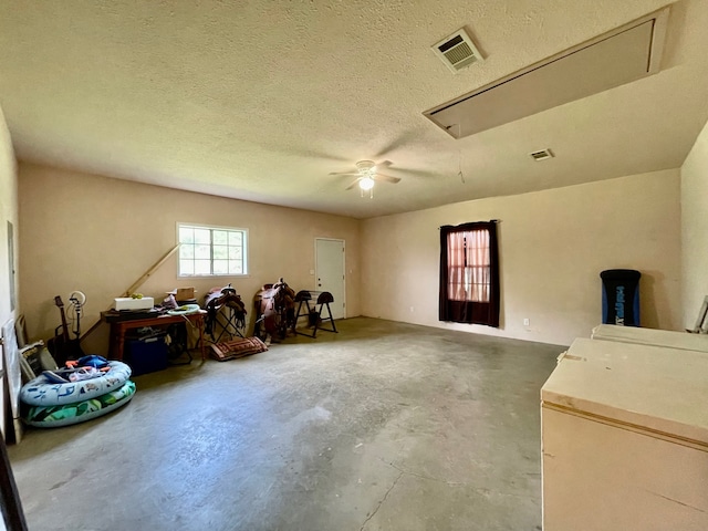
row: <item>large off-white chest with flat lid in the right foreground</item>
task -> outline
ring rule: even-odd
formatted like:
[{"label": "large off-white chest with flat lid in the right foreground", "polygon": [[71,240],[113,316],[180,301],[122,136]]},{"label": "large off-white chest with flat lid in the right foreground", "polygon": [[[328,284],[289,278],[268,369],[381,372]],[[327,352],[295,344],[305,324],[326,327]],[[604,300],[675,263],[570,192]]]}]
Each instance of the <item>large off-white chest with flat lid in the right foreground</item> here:
[{"label": "large off-white chest with flat lid in the right foreground", "polygon": [[575,340],[541,427],[544,531],[708,530],[708,354]]}]

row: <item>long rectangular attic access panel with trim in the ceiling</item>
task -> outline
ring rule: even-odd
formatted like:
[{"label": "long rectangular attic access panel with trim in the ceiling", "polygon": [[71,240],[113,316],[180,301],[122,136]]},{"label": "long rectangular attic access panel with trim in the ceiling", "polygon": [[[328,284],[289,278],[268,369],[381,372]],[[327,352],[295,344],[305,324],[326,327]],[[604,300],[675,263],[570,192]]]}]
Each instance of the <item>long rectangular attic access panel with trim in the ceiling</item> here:
[{"label": "long rectangular attic access panel with trim in the ceiling", "polygon": [[461,138],[659,71],[666,7],[423,113]]}]

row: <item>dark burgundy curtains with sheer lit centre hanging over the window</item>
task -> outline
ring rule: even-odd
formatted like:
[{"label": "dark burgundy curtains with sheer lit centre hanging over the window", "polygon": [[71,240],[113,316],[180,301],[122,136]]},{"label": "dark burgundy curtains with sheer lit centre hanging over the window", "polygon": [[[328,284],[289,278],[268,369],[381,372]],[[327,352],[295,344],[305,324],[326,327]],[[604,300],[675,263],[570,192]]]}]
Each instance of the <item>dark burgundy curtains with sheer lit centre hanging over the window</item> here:
[{"label": "dark burgundy curtains with sheer lit centre hanging over the window", "polygon": [[496,221],[440,227],[440,321],[499,327]]}]

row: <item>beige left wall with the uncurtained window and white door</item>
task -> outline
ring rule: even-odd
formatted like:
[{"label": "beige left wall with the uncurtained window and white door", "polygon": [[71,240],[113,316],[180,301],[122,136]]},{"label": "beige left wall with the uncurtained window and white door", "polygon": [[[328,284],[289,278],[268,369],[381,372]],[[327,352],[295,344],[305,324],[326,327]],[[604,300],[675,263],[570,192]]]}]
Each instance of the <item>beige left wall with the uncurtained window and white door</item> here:
[{"label": "beige left wall with the uncurtained window and white door", "polygon": [[[168,260],[139,289],[162,301],[176,287],[209,288],[231,282],[248,302],[280,277],[295,290],[314,289],[314,238],[346,241],[346,314],[360,309],[358,221],[272,207],[107,177],[20,164],[20,271],[22,306],[31,337],[49,337],[59,324],[53,298],[86,294],[84,331],[176,243],[176,223],[249,229],[248,278],[178,280]],[[0,264],[1,266],[1,264]],[[249,323],[251,324],[251,323]],[[107,326],[91,334],[84,350],[105,354]]]}]

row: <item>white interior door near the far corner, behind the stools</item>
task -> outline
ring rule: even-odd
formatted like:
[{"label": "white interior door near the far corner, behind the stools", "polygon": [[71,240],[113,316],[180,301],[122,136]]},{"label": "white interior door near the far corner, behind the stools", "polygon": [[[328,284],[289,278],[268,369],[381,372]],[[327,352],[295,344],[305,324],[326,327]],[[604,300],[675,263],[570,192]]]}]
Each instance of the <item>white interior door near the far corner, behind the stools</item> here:
[{"label": "white interior door near the far corner, behind the stools", "polygon": [[346,308],[346,301],[344,300],[344,240],[315,238],[314,263],[314,289],[332,293],[334,298],[334,302],[330,303],[332,316],[334,319],[344,319],[346,316],[344,310]]}]

